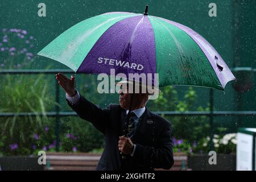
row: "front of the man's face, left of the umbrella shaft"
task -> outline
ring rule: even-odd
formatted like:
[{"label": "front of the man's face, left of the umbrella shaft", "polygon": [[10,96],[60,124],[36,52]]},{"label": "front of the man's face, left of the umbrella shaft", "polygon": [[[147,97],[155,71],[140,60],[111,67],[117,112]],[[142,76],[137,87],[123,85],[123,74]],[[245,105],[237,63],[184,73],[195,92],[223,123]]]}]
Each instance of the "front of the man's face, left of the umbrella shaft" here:
[{"label": "front of the man's face, left of the umbrella shaft", "polygon": [[131,94],[128,93],[128,86],[122,85],[119,93],[119,104],[123,109],[129,109],[131,102]]}]

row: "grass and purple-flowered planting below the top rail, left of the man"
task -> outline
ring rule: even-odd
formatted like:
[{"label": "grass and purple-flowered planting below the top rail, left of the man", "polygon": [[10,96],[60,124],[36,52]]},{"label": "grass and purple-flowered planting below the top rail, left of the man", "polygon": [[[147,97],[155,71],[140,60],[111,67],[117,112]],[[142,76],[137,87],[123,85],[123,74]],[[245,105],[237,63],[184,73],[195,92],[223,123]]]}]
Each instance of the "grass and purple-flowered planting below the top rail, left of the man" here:
[{"label": "grass and purple-flowered planting below the top rail, left of the man", "polygon": [[[0,118],[1,155],[30,155],[40,150],[55,151],[55,118],[47,111],[55,109],[55,95],[49,89],[49,79],[43,75],[2,77],[1,112],[16,113]],[[17,114],[30,112],[18,117]],[[39,115],[42,113],[42,115]],[[104,137],[92,124],[78,117],[60,119],[60,151],[88,152],[104,145]]]}]

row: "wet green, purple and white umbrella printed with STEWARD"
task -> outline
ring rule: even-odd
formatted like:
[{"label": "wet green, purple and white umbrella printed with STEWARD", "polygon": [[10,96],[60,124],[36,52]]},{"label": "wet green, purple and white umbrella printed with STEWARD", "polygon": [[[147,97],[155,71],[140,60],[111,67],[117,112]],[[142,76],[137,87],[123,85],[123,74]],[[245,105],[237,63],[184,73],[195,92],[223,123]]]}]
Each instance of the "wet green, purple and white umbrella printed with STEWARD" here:
[{"label": "wet green, purple and white umbrella printed with STEWARD", "polygon": [[180,23],[147,13],[105,13],[75,24],[38,55],[76,73],[158,73],[159,86],[193,85],[224,90],[234,80],[217,51]]}]

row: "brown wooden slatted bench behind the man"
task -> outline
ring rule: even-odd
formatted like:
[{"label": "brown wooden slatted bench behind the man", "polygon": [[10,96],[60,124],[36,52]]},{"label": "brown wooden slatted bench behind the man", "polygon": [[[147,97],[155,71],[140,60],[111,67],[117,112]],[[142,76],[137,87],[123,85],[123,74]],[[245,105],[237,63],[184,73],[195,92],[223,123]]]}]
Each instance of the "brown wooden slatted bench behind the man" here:
[{"label": "brown wooden slatted bench behind the man", "polygon": [[[45,170],[58,171],[94,171],[101,154],[89,153],[47,153]],[[171,171],[187,170],[187,155],[174,154],[174,166]],[[156,169],[162,171],[164,169]]]}]

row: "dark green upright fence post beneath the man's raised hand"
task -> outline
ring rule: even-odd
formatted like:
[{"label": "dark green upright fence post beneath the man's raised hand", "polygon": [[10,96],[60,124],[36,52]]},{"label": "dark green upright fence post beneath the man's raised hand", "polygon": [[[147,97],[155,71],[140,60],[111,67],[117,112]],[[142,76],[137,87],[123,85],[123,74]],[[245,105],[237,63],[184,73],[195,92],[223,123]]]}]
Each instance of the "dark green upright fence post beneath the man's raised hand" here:
[{"label": "dark green upright fence post beneath the man's raised hand", "polygon": [[55,106],[55,111],[56,111],[56,128],[55,128],[55,132],[56,132],[56,152],[60,151],[60,86],[59,83],[56,80],[56,94],[55,94],[55,101],[56,101],[56,106]]}]

